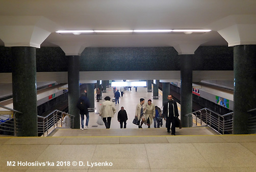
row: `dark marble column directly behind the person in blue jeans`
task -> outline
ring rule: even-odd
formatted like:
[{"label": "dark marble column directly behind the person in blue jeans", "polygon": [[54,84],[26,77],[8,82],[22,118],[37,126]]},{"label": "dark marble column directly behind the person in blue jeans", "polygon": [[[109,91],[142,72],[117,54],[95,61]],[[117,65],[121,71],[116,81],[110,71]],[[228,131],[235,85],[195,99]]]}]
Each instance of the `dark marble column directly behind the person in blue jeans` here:
[{"label": "dark marble column directly behind the person in blue jeans", "polygon": [[80,128],[80,113],[76,107],[80,97],[79,56],[68,55],[68,112],[75,116],[74,128]]}]

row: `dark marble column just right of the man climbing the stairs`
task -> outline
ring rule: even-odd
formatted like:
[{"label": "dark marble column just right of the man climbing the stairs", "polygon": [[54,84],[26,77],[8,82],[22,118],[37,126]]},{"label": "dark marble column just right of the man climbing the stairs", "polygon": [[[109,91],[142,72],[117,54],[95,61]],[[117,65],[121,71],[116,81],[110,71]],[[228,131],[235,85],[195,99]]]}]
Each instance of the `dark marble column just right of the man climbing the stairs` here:
[{"label": "dark marble column just right of the man climbing the stairs", "polygon": [[184,54],[181,57],[181,123],[182,127],[192,127],[192,116],[185,116],[192,112],[192,64],[193,55]]}]

